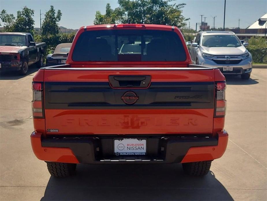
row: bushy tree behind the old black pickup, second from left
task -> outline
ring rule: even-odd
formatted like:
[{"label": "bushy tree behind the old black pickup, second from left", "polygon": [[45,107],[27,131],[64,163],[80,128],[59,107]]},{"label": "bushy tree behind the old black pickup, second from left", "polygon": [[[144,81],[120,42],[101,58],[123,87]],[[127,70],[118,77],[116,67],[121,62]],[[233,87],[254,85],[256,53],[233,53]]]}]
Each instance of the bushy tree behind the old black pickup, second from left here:
[{"label": "bushy tree behind the old black pickup, second from left", "polygon": [[25,6],[22,11],[17,12],[17,18],[13,25],[13,30],[15,32],[28,32],[34,35],[34,10],[27,8]]}]

